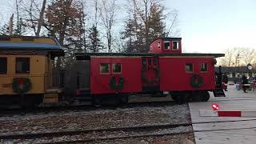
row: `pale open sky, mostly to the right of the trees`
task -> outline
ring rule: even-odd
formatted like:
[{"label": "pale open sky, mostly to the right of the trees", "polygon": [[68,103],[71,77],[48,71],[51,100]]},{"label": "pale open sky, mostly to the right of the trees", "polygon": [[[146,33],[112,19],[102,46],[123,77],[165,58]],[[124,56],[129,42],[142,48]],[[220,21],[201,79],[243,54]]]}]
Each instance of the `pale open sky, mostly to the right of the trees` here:
[{"label": "pale open sky, mostly to the right of the trees", "polygon": [[[178,10],[183,51],[222,53],[232,47],[256,49],[255,0],[165,0],[165,4],[169,10]],[[0,0],[0,21],[10,18],[10,7],[9,0]]]}]

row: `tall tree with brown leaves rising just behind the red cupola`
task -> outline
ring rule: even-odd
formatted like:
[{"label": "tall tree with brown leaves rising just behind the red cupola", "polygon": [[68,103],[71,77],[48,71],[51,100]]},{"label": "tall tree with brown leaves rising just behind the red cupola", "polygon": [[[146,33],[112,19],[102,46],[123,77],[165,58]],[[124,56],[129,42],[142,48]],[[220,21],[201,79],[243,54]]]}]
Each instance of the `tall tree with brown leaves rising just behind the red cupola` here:
[{"label": "tall tree with brown leaves rising just behind the red cupola", "polygon": [[[129,0],[128,0],[129,1]],[[150,42],[164,37],[166,24],[165,7],[158,0],[130,1],[130,18],[126,21],[122,38],[126,40],[127,52],[148,52]]]}]

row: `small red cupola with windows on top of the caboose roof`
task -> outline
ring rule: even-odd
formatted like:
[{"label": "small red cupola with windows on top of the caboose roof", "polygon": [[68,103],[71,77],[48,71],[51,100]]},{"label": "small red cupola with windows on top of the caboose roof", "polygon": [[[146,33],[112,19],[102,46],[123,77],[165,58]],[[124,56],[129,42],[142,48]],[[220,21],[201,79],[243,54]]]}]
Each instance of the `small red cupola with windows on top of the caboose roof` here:
[{"label": "small red cupola with windows on top of the caboose roof", "polygon": [[157,38],[150,44],[149,53],[182,54],[182,38]]}]

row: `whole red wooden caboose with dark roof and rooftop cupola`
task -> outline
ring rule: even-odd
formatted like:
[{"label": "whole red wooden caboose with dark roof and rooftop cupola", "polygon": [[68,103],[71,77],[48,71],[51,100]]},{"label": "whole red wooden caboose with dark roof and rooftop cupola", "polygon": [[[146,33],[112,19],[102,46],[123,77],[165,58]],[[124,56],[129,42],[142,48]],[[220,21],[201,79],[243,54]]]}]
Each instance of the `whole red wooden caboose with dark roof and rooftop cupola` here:
[{"label": "whole red wooden caboose with dark roof and rooftop cupola", "polygon": [[90,62],[90,87],[80,89],[94,102],[110,95],[127,99],[127,94],[166,91],[174,100],[207,101],[208,91],[215,90],[215,58],[224,54],[182,54],[181,40],[158,38],[145,54],[78,53],[78,60]]}]

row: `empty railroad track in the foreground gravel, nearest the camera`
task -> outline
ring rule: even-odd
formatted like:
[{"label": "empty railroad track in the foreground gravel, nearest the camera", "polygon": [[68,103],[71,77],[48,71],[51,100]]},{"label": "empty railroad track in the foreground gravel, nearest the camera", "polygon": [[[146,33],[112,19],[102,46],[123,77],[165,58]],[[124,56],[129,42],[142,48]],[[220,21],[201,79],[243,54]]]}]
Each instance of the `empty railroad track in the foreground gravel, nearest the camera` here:
[{"label": "empty railroad track in the foreground gravel, nearest the camera", "polygon": [[[82,136],[79,140],[74,141],[57,141],[54,143],[74,143],[74,142],[94,142],[102,140],[114,140],[118,138],[140,138],[150,136],[163,136],[174,134],[189,134],[193,131],[192,123],[182,124],[166,124],[154,126],[130,126],[130,127],[116,127],[104,129],[91,129],[91,130],[67,130],[58,132],[46,133],[30,133],[30,134],[2,134],[0,139],[3,140],[28,140],[34,138],[56,139],[63,136]],[[114,136],[113,136],[114,135]],[[72,138],[71,138],[72,139]],[[1,141],[0,141],[1,142]],[[50,141],[51,142],[51,141]],[[45,142],[44,142],[45,143]]]}]

